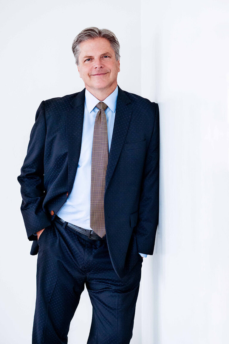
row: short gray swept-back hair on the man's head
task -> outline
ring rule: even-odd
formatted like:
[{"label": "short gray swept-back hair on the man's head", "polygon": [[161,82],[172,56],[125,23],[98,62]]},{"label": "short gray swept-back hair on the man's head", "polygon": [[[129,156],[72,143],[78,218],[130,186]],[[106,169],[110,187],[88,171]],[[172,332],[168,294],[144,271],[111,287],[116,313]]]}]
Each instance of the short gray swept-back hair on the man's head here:
[{"label": "short gray swept-back hair on the man's head", "polygon": [[77,65],[79,65],[80,43],[93,39],[93,38],[98,38],[98,37],[106,38],[110,42],[111,47],[115,52],[116,61],[120,59],[120,55],[119,55],[120,44],[118,43],[118,40],[115,34],[108,29],[98,29],[92,26],[90,28],[82,30],[75,37],[72,43],[72,52],[75,56]]}]

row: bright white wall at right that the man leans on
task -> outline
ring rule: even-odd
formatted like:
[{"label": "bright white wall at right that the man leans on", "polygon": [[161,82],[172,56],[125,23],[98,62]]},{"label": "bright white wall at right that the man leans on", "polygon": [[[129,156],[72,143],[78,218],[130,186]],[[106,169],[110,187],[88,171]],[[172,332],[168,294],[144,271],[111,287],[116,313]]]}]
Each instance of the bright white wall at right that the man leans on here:
[{"label": "bright white wall at right that the man leans on", "polygon": [[229,4],[142,0],[141,29],[142,96],[159,103],[161,138],[142,343],[228,343]]}]

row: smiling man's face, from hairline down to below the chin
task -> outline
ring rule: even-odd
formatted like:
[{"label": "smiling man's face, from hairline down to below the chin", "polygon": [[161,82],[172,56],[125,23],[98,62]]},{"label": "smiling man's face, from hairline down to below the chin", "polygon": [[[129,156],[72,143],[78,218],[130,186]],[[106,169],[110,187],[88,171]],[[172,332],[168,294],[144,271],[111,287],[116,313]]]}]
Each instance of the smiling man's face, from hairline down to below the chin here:
[{"label": "smiling man's face, from hairline down to below the chin", "polygon": [[102,37],[80,43],[78,71],[89,92],[113,90],[117,86],[120,62],[110,42]]}]

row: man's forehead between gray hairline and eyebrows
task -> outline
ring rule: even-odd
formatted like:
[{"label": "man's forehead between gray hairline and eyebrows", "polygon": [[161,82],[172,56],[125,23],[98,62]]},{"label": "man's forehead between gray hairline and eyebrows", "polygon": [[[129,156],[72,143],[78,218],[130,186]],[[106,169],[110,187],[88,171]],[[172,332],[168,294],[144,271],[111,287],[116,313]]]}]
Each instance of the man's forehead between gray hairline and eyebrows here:
[{"label": "man's forehead between gray hairline and eyebrows", "polygon": [[80,43],[80,56],[85,54],[93,56],[93,54],[103,54],[106,52],[115,54],[110,42],[106,38],[97,37]]}]

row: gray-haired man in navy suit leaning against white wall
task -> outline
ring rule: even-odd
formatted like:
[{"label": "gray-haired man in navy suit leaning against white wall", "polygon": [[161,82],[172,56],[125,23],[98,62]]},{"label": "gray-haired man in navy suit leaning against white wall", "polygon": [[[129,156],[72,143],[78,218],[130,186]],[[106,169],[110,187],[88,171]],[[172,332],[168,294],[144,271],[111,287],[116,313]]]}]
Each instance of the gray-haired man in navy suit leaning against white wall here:
[{"label": "gray-haired man in navy suit leaning against white wall", "polygon": [[32,343],[67,343],[85,283],[87,344],[126,344],[158,225],[159,109],[117,85],[113,32],[87,28],[72,50],[85,88],[42,101],[18,177],[38,252]]}]

